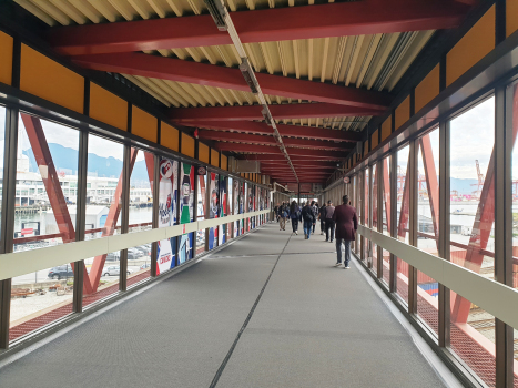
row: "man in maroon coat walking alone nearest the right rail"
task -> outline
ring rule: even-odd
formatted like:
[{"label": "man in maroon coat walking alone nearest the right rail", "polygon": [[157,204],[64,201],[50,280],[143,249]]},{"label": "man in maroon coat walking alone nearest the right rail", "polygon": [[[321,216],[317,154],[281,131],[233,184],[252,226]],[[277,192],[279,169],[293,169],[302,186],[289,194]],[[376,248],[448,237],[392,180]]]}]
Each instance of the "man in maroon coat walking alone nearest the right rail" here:
[{"label": "man in maroon coat walking alone nearest the right rail", "polygon": [[342,243],[345,246],[344,265],[349,269],[351,242],[355,241],[356,229],[358,228],[358,216],[356,208],[349,205],[349,197],[342,197],[343,204],[335,207],[333,221],[336,224],[336,266],[342,265]]}]

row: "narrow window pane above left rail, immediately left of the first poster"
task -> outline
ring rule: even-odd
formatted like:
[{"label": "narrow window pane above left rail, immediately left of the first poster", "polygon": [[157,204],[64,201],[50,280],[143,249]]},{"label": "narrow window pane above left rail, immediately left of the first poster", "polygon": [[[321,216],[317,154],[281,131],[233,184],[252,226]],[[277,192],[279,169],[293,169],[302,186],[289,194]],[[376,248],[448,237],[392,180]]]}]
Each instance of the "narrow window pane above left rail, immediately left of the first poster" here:
[{"label": "narrow window pane above left rail, immediately left of the first poster", "polygon": [[130,175],[130,233],[152,228],[154,177],[154,155],[133,147],[131,153],[135,163]]}]

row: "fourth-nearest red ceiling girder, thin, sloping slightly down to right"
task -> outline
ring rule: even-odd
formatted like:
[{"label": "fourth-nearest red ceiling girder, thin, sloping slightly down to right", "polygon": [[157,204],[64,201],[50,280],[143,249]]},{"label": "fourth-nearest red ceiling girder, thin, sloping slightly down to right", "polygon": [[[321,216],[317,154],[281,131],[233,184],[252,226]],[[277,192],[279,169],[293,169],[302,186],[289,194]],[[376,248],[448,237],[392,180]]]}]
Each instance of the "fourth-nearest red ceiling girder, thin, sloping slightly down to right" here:
[{"label": "fourth-nearest red ceiling girder, thin, sloping slightly down to right", "polygon": [[[212,122],[185,122],[185,126],[204,127],[207,130],[236,131],[252,134],[273,135],[273,129],[263,122],[255,121],[212,121]],[[328,140],[335,142],[359,142],[359,132],[329,130],[324,127],[277,124],[281,136],[303,137],[314,140]]]}]

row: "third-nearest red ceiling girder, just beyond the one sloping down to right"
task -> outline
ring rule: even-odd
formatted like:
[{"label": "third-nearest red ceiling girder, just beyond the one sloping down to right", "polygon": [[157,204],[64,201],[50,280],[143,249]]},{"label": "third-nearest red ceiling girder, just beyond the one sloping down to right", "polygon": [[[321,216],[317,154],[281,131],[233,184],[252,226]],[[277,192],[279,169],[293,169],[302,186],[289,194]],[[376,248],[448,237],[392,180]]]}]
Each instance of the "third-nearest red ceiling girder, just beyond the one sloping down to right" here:
[{"label": "third-nearest red ceiling girder, just beyond the one sloping down to right", "polygon": [[[337,104],[302,103],[270,105],[272,115],[277,119],[316,119],[380,115],[383,110],[359,109]],[[261,105],[173,108],[169,111],[171,120],[187,125],[187,121],[236,121],[263,120]],[[200,124],[200,126],[203,126]]]}]

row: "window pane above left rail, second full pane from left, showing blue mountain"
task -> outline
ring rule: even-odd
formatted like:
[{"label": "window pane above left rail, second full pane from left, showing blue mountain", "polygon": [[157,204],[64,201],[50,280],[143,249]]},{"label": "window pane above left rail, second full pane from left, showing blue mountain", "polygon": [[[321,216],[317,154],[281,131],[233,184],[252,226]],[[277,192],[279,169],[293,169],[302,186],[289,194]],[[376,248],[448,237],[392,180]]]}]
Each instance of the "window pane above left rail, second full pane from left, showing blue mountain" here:
[{"label": "window pane above left rail, second full pane from left, showing blue mountain", "polygon": [[88,150],[85,239],[92,239],[120,233],[124,146],[90,134]]}]

